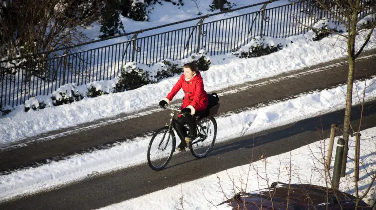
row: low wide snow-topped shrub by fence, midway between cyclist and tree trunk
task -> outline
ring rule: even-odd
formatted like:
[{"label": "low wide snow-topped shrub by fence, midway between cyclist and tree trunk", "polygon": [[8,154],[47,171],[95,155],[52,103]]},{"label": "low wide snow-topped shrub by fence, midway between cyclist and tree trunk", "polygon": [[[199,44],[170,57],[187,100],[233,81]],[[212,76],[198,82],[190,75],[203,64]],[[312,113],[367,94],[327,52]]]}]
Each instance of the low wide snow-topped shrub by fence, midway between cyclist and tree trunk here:
[{"label": "low wide snow-topped shrub by fence, midway between cyclist and tree trunk", "polygon": [[261,57],[283,49],[292,42],[282,38],[256,36],[250,43],[240,49],[233,49],[233,54],[239,58]]}]

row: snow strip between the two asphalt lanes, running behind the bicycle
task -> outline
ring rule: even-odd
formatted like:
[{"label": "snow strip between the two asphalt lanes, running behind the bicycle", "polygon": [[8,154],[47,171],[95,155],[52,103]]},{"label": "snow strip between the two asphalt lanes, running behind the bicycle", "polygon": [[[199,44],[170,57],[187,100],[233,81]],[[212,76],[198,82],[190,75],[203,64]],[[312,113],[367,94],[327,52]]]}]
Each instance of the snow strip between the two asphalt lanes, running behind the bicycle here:
[{"label": "snow strip between the two asphalt lanes, running behind the bicycle", "polygon": [[[364,89],[365,86],[367,87],[366,89]],[[345,90],[346,85],[343,85],[334,89],[302,94],[295,99],[277,102],[266,107],[217,117],[216,142],[223,142],[237,136],[249,135],[264,129],[342,109],[344,108]],[[376,99],[376,77],[356,82],[353,92],[353,104],[359,104],[359,99],[361,99],[364,91],[365,101]],[[360,98],[358,95],[360,95]],[[59,162],[51,162],[36,168],[15,171],[11,174],[0,176],[0,200],[35,191],[49,190],[77,180],[83,180],[91,174],[106,173],[144,163],[147,161],[146,152],[149,141],[150,137],[139,137],[130,142],[119,143],[110,149],[74,155]],[[371,144],[362,145],[361,147],[369,149],[370,153],[376,149]],[[298,153],[302,153],[304,150],[306,149],[303,148]],[[368,152],[368,150],[364,152]],[[306,162],[299,162],[298,158],[295,159],[294,165],[310,170],[311,164],[308,164],[309,168],[303,168],[307,165]],[[274,167],[277,166],[271,164],[270,167],[271,170],[274,170]],[[370,165],[369,167],[373,166]],[[201,192],[196,191],[196,193]],[[218,200],[211,199],[215,202]],[[196,204],[193,203],[192,205]]]}]

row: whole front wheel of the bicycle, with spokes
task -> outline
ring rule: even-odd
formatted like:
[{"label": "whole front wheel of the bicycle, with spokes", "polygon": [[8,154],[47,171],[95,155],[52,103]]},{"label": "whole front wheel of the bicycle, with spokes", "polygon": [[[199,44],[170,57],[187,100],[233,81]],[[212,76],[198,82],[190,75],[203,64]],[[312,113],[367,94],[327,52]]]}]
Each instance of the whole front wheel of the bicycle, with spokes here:
[{"label": "whole front wheel of the bicycle, with spokes", "polygon": [[175,133],[169,127],[157,130],[147,148],[147,163],[153,170],[163,169],[172,158],[175,150]]}]

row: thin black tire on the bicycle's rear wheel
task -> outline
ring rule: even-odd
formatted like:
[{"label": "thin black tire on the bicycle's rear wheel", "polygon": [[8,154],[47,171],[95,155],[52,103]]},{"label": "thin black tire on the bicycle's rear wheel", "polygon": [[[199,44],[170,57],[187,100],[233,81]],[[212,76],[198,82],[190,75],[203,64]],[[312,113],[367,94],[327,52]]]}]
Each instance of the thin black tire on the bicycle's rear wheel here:
[{"label": "thin black tire on the bicycle's rear wheel", "polygon": [[[198,142],[198,141],[200,141],[201,139],[199,139],[199,140],[194,140],[193,142],[192,142],[192,145],[191,145],[191,148],[190,148],[190,150],[191,150],[191,153],[192,153],[192,155],[194,156],[194,157],[196,157],[196,158],[203,158],[203,157],[205,157],[206,155],[208,155],[209,154],[209,152],[212,150],[212,148],[213,148],[213,146],[214,146],[214,143],[215,143],[215,141],[216,141],[216,137],[217,137],[217,122],[216,122],[216,120],[214,119],[214,117],[213,116],[207,116],[207,117],[203,117],[203,118],[201,118],[197,123],[201,123],[201,122],[203,122],[204,120],[208,120],[209,119],[209,121],[211,121],[212,123],[212,126],[213,126],[213,131],[211,131],[211,135],[213,136],[212,138],[212,140],[208,140],[208,138],[206,138],[206,139],[204,139],[203,141],[201,141],[201,142]],[[210,125],[210,124],[209,124]],[[208,132],[208,129],[207,129],[207,132]],[[199,133],[198,133],[198,135],[199,135]],[[208,136],[207,136],[208,137]],[[211,142],[209,142],[209,141],[211,141]],[[206,148],[206,149],[203,149],[204,151],[203,152],[200,152],[200,148],[199,147],[204,147],[204,145],[205,145],[205,143],[209,143],[208,145],[208,148]]]}]

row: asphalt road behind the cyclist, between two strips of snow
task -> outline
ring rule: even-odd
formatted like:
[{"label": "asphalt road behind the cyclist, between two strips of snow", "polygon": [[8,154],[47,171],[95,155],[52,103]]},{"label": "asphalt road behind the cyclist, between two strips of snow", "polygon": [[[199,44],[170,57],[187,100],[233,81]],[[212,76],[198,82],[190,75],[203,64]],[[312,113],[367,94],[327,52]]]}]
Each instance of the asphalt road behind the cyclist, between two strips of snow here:
[{"label": "asphalt road behind the cyclist, between two strips of snow", "polygon": [[[362,55],[368,56],[374,54],[376,54],[376,50],[364,52]],[[329,63],[322,63],[300,71],[290,72],[256,82],[248,82],[230,89],[218,91],[224,92],[224,95],[220,97],[221,107],[219,113],[224,114],[234,110],[241,111],[242,108],[249,108],[261,103],[289,98],[302,92],[331,88],[335,85],[343,84],[347,80],[348,65],[346,63],[332,64],[345,60],[346,59],[343,58]],[[376,68],[374,66],[376,66],[375,55],[358,59],[356,63],[355,79],[376,74]],[[319,68],[319,70],[317,70],[317,68]],[[297,75],[297,73],[300,74]],[[294,75],[292,76],[292,74]],[[166,112],[160,111],[130,120],[104,125],[95,129],[84,130],[77,133],[72,132],[69,135],[52,140],[36,141],[35,143],[30,143],[21,148],[1,150],[0,173],[19,169],[20,166],[30,166],[34,163],[43,164],[47,159],[80,153],[83,150],[103,144],[125,141],[127,138],[132,138],[135,135],[142,135],[160,128],[165,124],[168,117]],[[64,130],[49,134],[56,134],[62,131]]]}]

